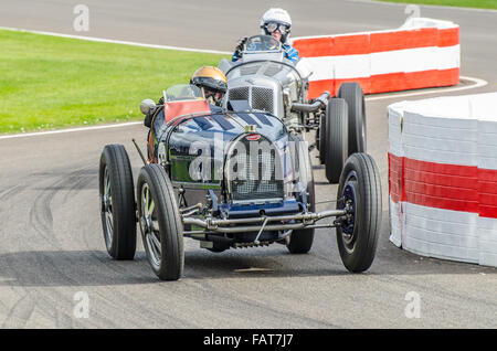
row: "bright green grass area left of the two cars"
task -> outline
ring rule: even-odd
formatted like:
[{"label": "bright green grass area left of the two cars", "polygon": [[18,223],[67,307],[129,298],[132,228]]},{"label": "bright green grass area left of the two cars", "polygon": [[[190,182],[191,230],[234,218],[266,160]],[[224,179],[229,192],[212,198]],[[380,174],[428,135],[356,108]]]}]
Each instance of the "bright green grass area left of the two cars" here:
[{"label": "bright green grass area left of the two cars", "polygon": [[0,30],[0,134],[139,120],[144,98],[222,57]]}]

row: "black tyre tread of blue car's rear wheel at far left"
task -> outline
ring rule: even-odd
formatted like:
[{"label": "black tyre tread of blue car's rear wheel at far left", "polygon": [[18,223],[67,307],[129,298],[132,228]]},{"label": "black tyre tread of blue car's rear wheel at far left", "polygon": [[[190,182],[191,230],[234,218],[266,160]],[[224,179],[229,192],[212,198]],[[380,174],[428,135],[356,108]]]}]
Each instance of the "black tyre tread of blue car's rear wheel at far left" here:
[{"label": "black tyre tread of blue car's rear wheel at far left", "polygon": [[107,145],[104,148],[101,157],[101,194],[103,166],[107,166],[113,193],[114,237],[109,255],[115,259],[133,259],[136,252],[135,194],[131,166],[125,147]]}]

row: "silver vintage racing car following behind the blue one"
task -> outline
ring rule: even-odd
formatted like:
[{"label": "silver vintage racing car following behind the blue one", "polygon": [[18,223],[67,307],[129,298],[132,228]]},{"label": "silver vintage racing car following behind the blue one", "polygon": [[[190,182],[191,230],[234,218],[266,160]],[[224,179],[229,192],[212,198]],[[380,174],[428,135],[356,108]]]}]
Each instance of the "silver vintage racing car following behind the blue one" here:
[{"label": "silver vintage racing car following behind the blue one", "polygon": [[322,92],[316,99],[308,100],[308,78],[313,72],[307,59],[294,64],[284,57],[281,42],[269,35],[251,36],[243,47],[241,60],[224,59],[218,65],[228,78],[224,106],[229,100],[244,99],[252,108],[279,117],[290,130],[315,130],[310,149],[319,150],[328,181],[337,183],[347,157],[366,152],[366,106],[361,86],[355,82],[343,83],[336,97],[330,98],[329,92]]}]

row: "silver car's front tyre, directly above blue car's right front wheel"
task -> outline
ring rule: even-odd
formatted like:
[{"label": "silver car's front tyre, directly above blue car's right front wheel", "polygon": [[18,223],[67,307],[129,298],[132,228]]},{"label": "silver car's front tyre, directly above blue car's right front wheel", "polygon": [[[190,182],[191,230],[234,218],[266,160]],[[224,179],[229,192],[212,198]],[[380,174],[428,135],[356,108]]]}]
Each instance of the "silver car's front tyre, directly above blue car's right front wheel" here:
[{"label": "silver car's front tyre, directly above blue car's right front wheel", "polygon": [[342,98],[331,98],[326,111],[326,178],[336,184],[348,157],[347,103]]}]

